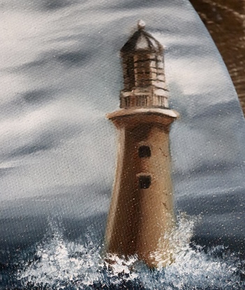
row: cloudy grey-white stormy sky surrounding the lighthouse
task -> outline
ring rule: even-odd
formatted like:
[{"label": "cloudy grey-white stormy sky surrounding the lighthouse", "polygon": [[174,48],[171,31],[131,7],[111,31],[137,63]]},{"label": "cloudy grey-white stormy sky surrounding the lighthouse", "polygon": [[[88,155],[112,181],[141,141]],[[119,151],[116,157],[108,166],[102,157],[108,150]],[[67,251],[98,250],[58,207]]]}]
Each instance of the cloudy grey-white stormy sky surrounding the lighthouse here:
[{"label": "cloudy grey-white stormy sky surrounding the lighthouse", "polygon": [[200,235],[243,237],[244,118],[188,1],[2,0],[0,11],[1,242],[38,235],[40,216],[105,217],[116,154],[105,114],[119,106],[119,50],[139,19],[165,48],[181,115],[170,134],[177,208],[205,215]]}]

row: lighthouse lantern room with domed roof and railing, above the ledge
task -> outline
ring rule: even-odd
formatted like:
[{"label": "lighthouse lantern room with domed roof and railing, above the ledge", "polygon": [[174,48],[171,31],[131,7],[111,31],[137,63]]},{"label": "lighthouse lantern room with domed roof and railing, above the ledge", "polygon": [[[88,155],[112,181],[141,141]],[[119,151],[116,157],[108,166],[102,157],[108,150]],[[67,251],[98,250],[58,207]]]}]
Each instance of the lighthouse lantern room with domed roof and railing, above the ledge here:
[{"label": "lighthouse lantern room with domed roof and railing, above the ledge", "polygon": [[124,89],[120,107],[168,108],[163,46],[144,31],[144,26],[140,20],[138,31],[121,48]]}]

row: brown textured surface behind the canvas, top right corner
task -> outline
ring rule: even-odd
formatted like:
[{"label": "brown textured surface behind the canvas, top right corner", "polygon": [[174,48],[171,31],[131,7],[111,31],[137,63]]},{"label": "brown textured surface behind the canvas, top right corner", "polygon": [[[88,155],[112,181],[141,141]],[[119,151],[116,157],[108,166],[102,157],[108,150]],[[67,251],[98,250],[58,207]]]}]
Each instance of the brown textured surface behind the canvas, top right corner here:
[{"label": "brown textured surface behind the canvas, top right corner", "polygon": [[245,0],[190,0],[225,61],[245,115]]}]

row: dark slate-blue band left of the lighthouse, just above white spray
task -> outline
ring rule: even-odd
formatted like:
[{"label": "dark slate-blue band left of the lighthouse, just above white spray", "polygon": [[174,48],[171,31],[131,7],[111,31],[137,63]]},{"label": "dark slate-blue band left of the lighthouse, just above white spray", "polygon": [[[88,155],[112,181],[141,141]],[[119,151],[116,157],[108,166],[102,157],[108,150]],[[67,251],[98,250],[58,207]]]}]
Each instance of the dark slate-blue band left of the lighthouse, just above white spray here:
[{"label": "dark slate-blue band left of the lighthouse, just above white spray", "polygon": [[[33,205],[33,203],[31,204]],[[59,211],[61,212],[61,210]],[[106,214],[69,219],[67,217],[52,218],[53,212],[46,211],[46,213],[47,215],[43,213],[41,215],[20,215],[19,217],[0,219],[1,263],[9,263],[16,254],[20,254],[20,251],[35,245],[37,242],[40,243],[44,239],[50,241],[54,232],[61,233],[68,240],[80,238],[80,242],[86,240],[86,235],[90,231],[98,238],[103,238]]]}]

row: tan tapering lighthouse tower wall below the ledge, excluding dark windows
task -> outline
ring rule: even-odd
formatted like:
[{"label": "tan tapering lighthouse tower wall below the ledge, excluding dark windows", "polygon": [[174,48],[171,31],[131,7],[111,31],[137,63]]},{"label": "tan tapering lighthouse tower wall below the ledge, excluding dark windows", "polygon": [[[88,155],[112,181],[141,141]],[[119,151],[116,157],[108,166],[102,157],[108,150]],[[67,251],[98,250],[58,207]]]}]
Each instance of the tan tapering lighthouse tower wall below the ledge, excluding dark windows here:
[{"label": "tan tapering lighthouse tower wall below the ledge, excluding dark windows", "polygon": [[[169,126],[174,120],[161,114],[135,114],[112,118],[119,133],[117,169],[107,219],[107,252],[138,254],[148,266],[156,266],[151,253],[174,220]],[[150,157],[138,149],[150,147]],[[150,175],[151,185],[141,189],[140,175]]]}]

